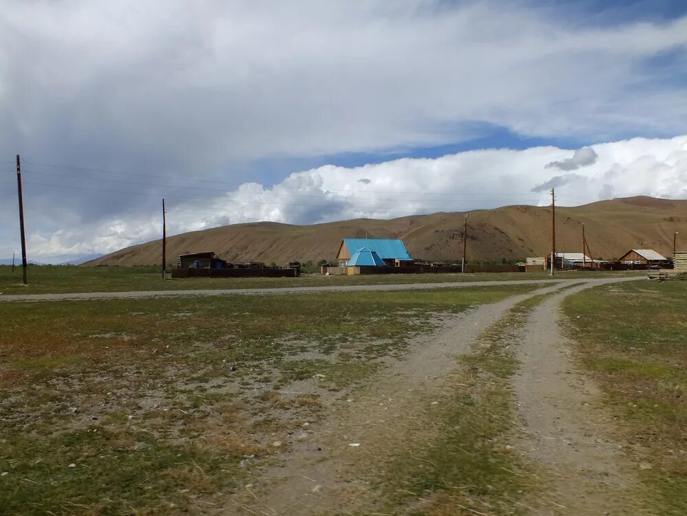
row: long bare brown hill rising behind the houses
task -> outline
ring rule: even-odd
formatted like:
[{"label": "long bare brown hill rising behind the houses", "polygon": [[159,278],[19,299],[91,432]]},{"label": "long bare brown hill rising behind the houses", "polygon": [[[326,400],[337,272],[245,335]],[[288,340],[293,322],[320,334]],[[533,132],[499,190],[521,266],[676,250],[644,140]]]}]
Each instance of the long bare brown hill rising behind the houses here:
[{"label": "long bare brown hill rising behind the houses", "polygon": [[[344,237],[402,238],[411,256],[458,260],[465,213],[435,213],[389,221],[357,218],[307,226],[273,222],[235,224],[170,236],[167,261],[196,251],[215,251],[232,262],[333,260]],[[582,224],[594,258],[619,258],[629,249],[673,253],[673,234],[687,241],[687,200],[629,197],[576,207],[556,207],[556,249],[582,251]],[[550,252],[550,207],[506,206],[469,212],[467,257],[523,259]],[[678,247],[681,247],[678,245]],[[687,247],[687,245],[682,245]],[[159,264],[160,240],[127,247],[84,265]]]}]

